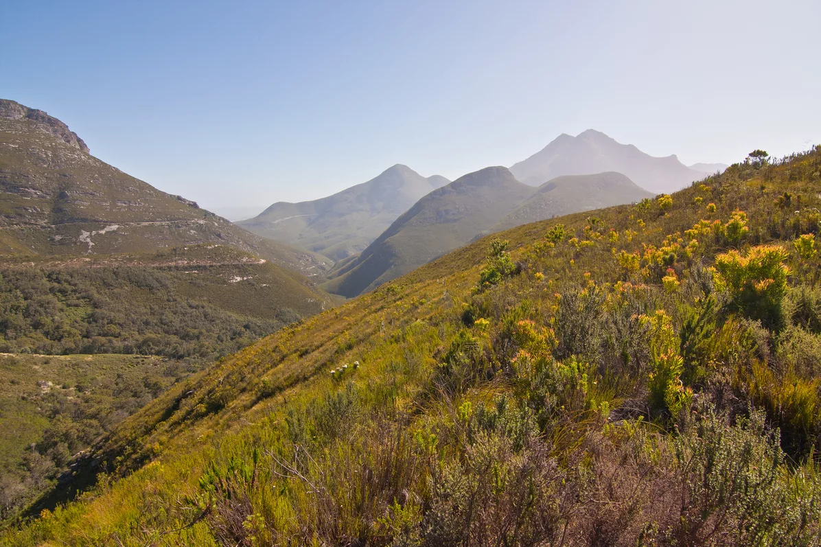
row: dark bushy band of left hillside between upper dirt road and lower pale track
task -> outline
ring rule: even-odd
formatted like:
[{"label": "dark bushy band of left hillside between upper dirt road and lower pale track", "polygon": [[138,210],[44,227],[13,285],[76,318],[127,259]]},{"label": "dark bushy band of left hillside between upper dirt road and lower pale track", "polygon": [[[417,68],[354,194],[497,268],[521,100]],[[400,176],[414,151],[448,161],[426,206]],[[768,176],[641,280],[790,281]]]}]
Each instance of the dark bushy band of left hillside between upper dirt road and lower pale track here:
[{"label": "dark bushy band of left hillside between upper dirt road and lower pale track", "polygon": [[0,268],[0,352],[213,359],[337,302],[230,247]]}]

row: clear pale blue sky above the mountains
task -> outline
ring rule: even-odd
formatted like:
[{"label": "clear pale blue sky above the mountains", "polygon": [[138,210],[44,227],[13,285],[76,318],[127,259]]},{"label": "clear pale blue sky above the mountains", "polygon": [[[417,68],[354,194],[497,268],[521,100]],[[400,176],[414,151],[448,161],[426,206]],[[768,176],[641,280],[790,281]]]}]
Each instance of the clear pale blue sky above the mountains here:
[{"label": "clear pale blue sky above the mountains", "polygon": [[2,0],[0,97],[202,205],[456,178],[589,127],[685,163],[821,143],[821,2]]}]

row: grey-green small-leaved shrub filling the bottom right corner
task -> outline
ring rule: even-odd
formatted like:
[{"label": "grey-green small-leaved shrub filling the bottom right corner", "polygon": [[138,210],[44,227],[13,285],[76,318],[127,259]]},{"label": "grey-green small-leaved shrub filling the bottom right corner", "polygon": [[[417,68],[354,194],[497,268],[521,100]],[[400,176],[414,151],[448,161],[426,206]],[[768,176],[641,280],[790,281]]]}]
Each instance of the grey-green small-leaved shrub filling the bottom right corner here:
[{"label": "grey-green small-leaved shrub filling the bottom right corner", "polygon": [[818,545],[821,481],[812,466],[785,473],[764,424],[760,411],[727,425],[708,410],[676,440],[684,485],[677,545]]}]

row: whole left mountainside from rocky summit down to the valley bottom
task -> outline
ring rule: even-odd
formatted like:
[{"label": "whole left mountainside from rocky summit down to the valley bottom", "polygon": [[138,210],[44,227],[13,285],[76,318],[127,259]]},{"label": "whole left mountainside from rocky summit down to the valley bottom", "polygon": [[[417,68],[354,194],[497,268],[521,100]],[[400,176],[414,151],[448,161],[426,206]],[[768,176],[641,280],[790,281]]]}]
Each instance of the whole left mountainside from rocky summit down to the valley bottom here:
[{"label": "whole left mountainside from rocky summit down to the valley bottom", "polygon": [[299,271],[329,265],[0,101],[2,518],[76,489],[76,453],[179,379],[341,301]]}]

